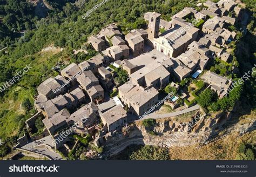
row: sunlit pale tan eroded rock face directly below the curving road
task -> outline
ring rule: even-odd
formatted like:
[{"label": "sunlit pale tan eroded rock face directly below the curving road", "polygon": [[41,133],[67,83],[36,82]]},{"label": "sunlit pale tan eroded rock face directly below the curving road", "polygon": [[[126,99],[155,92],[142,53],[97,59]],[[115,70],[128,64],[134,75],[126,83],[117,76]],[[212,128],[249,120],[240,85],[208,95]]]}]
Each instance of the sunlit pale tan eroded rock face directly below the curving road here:
[{"label": "sunlit pale tan eroded rock face directly below the curving road", "polygon": [[[189,122],[177,122],[174,120],[157,120],[154,127],[144,128],[138,125],[142,132],[145,145],[157,145],[161,147],[171,146],[190,146],[194,144],[204,144],[214,137],[218,130],[227,120],[224,113],[217,114],[214,118],[208,118],[207,115],[197,113]],[[151,135],[149,132],[156,132]]]}]

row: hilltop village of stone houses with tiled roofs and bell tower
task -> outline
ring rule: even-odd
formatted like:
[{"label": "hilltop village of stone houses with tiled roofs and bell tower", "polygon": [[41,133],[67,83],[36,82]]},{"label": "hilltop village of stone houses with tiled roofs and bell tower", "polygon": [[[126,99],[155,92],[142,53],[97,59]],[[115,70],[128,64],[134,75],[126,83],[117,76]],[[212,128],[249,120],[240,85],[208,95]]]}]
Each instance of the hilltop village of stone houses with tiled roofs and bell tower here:
[{"label": "hilltop village of stone houses with tiled roofs and bell tower", "polygon": [[[62,159],[56,150],[74,134],[90,134],[96,147],[104,146],[109,137],[122,133],[159,103],[167,86],[177,93],[163,104],[174,111],[195,107],[197,92],[180,86],[186,78],[204,81],[204,87],[195,88],[198,92],[211,88],[223,98],[232,80],[209,71],[209,65],[216,59],[232,62],[228,44],[237,33],[228,27],[241,21],[243,9],[231,0],[197,6],[201,11],[184,8],[170,22],[157,12],[146,12],[147,29],[123,32],[118,24],[109,24],[90,36],[87,45],[98,52],[95,57],[66,66],[37,88],[38,113],[26,124],[31,133],[36,119],[44,117],[44,135],[31,140],[26,134],[15,148],[56,160]],[[125,83],[116,79],[120,71],[127,75]]]}]

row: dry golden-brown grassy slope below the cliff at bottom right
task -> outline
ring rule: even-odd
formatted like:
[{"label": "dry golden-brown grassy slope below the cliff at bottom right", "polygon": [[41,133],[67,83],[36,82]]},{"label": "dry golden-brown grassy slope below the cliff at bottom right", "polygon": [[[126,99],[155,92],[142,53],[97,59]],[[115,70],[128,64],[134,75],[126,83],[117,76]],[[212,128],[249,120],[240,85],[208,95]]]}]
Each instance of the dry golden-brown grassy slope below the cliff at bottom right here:
[{"label": "dry golden-brown grassy slope below the cliff at bottom right", "polygon": [[[187,147],[171,147],[170,158],[174,160],[235,160],[241,158],[238,152],[241,142],[252,144],[256,131],[242,136],[236,133],[210,142],[207,145],[192,145]],[[246,153],[246,152],[245,152]],[[248,154],[248,153],[247,153]],[[248,155],[247,155],[248,156]]]}]

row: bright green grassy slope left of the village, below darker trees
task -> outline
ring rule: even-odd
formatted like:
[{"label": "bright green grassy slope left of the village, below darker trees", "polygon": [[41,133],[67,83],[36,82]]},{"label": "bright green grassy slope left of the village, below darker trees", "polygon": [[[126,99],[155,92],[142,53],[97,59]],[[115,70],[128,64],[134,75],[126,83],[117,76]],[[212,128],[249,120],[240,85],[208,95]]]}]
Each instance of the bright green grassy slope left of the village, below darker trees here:
[{"label": "bright green grassy slope left of the village, below darker trees", "polygon": [[35,110],[26,112],[22,106],[23,101],[28,98],[33,105],[33,97],[37,94],[36,87],[50,76],[55,76],[56,72],[52,67],[56,65],[60,53],[38,52],[32,56],[25,56],[16,60],[14,65],[19,66],[17,71],[23,70],[25,65],[32,67],[28,73],[15,83],[9,90],[5,91],[5,96],[0,103],[0,137],[23,135],[25,120],[32,117]]}]

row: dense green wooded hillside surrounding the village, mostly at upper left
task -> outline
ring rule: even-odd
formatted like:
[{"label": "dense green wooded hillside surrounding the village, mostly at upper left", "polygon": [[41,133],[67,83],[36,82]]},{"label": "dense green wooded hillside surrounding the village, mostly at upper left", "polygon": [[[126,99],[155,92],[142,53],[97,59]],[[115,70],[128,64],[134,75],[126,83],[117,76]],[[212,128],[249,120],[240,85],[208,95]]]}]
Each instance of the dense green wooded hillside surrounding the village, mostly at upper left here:
[{"label": "dense green wooded hillside surrounding the village, mostly at upper left", "polygon": [[[17,138],[24,134],[25,120],[35,113],[33,101],[37,86],[50,76],[58,73],[53,67],[78,62],[95,55],[88,53],[76,57],[73,49],[80,49],[87,37],[97,33],[103,26],[117,23],[125,31],[144,28],[144,13],[157,11],[161,18],[170,21],[171,16],[185,6],[195,6],[197,2],[189,0],[109,0],[93,11],[90,17],[82,16],[97,2],[89,0],[47,0],[47,11],[42,1],[37,5],[33,1],[0,1],[0,83],[10,80],[26,65],[31,65],[29,72],[17,83],[0,92],[0,137],[13,146]],[[237,78],[255,64],[255,3],[244,0],[250,11],[248,32],[236,43],[235,56],[239,63]],[[56,50],[42,52],[48,46]],[[255,76],[248,79],[242,98],[251,107],[255,106]],[[0,84],[1,85],[1,84]],[[7,151],[7,147],[5,150]]]}]

